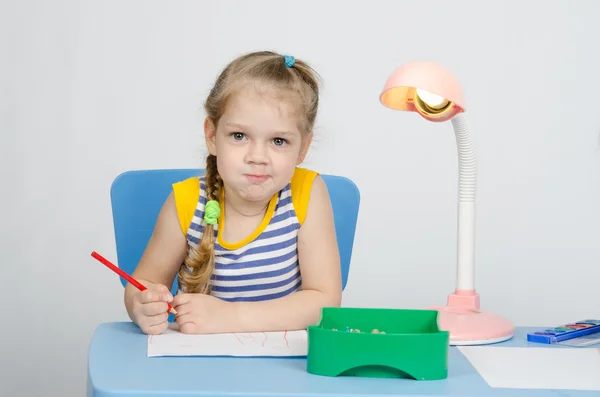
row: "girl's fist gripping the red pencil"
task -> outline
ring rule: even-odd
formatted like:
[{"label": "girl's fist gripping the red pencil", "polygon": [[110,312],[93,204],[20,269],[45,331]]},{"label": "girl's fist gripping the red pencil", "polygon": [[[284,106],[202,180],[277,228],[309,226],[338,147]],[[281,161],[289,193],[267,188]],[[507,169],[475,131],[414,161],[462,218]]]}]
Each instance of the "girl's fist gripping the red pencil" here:
[{"label": "girl's fist gripping the red pencil", "polygon": [[173,301],[173,296],[162,284],[149,284],[146,288],[133,296],[133,322],[145,334],[161,334],[169,325],[167,302]]}]

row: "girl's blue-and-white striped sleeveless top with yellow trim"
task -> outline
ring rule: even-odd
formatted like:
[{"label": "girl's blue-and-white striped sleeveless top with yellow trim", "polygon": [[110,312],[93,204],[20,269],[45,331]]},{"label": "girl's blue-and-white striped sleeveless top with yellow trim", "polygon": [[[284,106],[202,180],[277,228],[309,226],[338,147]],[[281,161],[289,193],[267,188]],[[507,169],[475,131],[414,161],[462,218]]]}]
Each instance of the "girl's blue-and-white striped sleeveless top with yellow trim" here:
[{"label": "girl's blue-and-white striped sleeveless top with yellow trim", "polygon": [[[211,279],[212,295],[231,302],[260,301],[280,298],[301,289],[297,237],[308,203],[310,183],[315,175],[299,169],[294,180],[271,199],[265,217],[254,233],[238,243],[231,244],[222,240],[219,226],[223,224],[224,212],[221,211],[219,222],[214,225],[215,269]],[[207,201],[204,176],[197,177],[196,180],[198,188],[193,216],[189,222],[180,216],[182,231],[187,225],[185,235],[188,246],[193,248],[197,248],[202,239],[205,226],[204,206]],[[192,182],[187,183],[190,185]],[[179,210],[185,200],[180,198],[178,202],[178,192],[174,191]],[[180,195],[183,196],[182,193]],[[300,219],[295,204],[302,207]],[[189,208],[189,199],[187,205]],[[185,211],[179,210],[179,213]],[[186,267],[185,264],[182,266]],[[180,291],[185,292],[181,288]]]}]

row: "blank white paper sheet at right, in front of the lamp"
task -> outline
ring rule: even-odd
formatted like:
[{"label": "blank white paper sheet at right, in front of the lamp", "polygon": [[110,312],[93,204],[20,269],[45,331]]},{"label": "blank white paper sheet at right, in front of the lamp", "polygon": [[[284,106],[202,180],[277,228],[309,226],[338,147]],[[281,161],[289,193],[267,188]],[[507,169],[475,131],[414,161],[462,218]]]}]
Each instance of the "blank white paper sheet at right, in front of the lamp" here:
[{"label": "blank white paper sheet at right, in front of the lamp", "polygon": [[600,349],[463,346],[491,387],[600,390]]}]

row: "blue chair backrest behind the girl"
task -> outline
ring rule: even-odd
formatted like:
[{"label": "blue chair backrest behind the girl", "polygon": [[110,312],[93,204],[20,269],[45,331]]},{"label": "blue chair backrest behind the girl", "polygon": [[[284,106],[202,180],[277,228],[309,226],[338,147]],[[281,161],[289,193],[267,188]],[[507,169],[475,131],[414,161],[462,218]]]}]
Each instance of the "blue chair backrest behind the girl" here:
[{"label": "blue chair backrest behind the girl", "polygon": [[[158,213],[175,182],[201,175],[203,169],[127,171],[112,183],[110,197],[118,266],[131,274],[137,266],[154,230]],[[335,221],[342,268],[342,286],[346,287],[352,246],[358,219],[360,192],[348,178],[321,175],[327,185]],[[121,278],[121,283],[126,281]],[[177,291],[177,278],[172,286]]]}]

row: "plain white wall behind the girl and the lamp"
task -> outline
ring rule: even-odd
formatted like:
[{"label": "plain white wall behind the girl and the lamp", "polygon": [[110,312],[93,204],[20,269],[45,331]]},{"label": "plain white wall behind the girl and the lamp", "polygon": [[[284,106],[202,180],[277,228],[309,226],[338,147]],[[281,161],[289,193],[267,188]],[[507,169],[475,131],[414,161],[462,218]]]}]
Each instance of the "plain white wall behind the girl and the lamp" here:
[{"label": "plain white wall behind the girl and the lamp", "polygon": [[203,166],[204,96],[257,49],[324,79],[306,165],[362,191],[345,305],[421,308],[454,288],[451,126],[378,102],[395,67],[428,59],[461,79],[476,133],[484,309],[600,316],[598,15],[594,0],[3,2],[0,395],[84,393],[95,327],[127,320],[90,257],[115,258],[113,178]]}]

